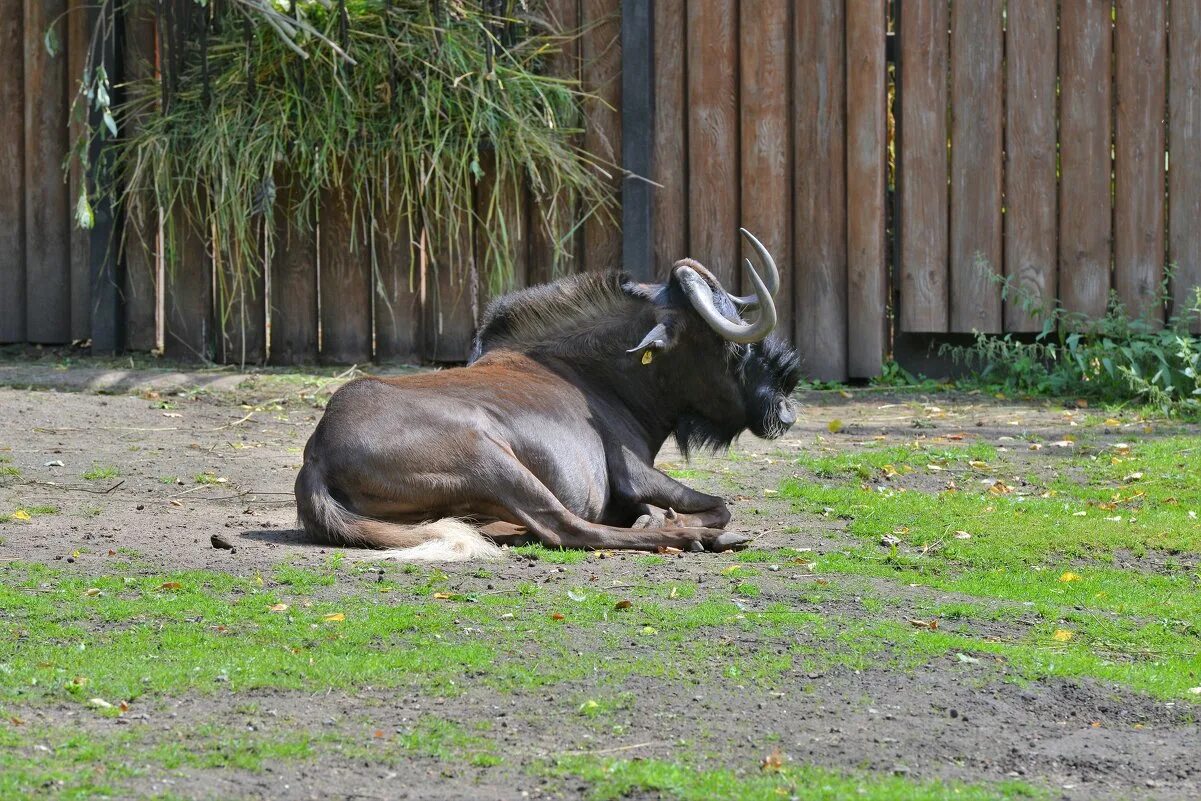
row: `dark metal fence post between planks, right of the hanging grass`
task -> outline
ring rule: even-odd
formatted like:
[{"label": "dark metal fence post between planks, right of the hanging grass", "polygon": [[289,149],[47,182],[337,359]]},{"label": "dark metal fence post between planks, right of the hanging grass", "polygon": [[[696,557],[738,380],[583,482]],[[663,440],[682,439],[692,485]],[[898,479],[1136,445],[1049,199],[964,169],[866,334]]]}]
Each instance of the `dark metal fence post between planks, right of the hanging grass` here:
[{"label": "dark metal fence post between planks, right of the hanging grass", "polygon": [[621,4],[622,269],[655,276],[651,159],[655,150],[655,0]]}]

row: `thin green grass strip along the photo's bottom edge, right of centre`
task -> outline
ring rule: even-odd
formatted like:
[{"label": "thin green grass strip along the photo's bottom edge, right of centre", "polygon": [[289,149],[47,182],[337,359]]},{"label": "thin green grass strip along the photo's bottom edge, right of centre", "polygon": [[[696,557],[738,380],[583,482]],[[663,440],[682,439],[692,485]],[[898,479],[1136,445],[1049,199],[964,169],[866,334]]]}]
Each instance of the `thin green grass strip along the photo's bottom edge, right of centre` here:
[{"label": "thin green grass strip along the photo's bottom edge, right of centre", "polygon": [[692,765],[658,759],[603,759],[561,757],[546,769],[555,776],[574,777],[591,784],[590,797],[597,801],[653,794],[680,801],[778,801],[803,797],[806,801],[999,801],[1045,797],[1027,784],[1004,782],[996,785],[914,782],[891,776],[847,775],[808,765],[785,764],[778,771],[740,772],[698,770]]}]

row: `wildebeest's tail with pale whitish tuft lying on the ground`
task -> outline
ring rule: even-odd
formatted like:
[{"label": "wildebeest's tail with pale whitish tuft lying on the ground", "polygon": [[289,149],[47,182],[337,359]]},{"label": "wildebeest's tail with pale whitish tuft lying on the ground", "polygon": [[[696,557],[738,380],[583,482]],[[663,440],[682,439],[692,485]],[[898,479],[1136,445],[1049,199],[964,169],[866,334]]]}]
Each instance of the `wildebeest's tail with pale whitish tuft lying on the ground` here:
[{"label": "wildebeest's tail with pale whitish tuft lying on the ground", "polygon": [[355,514],[330,495],[324,477],[307,464],[297,476],[295,495],[300,525],[310,537],[330,545],[381,549],[372,558],[462,562],[501,555],[474,526],[455,518],[405,525]]}]

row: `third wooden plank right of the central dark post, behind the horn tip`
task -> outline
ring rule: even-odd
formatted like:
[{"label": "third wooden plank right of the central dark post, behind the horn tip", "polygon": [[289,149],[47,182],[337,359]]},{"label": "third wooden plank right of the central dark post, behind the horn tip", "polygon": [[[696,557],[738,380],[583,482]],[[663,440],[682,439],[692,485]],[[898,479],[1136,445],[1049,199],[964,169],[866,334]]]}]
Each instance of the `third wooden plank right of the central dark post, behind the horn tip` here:
[{"label": "third wooden plank right of the central dark post, behind the horn tip", "polygon": [[[740,7],[741,59],[741,227],[753,233],[776,259],[776,330],[793,339],[793,174],[789,30],[787,0],[763,0]],[[749,246],[742,256],[752,256]],[[752,259],[754,261],[754,259]],[[741,268],[735,268],[741,269]],[[747,285],[742,280],[743,286]]]}]

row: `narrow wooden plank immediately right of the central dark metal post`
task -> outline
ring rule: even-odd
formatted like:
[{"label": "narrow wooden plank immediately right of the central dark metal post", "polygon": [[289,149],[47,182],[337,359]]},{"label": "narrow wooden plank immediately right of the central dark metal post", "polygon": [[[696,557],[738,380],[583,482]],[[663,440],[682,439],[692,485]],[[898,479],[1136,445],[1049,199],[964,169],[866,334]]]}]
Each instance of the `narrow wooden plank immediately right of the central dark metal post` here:
[{"label": "narrow wooden plank immediately right of the central dark metal post", "polygon": [[688,255],[688,88],[685,0],[655,0],[655,227],[651,270],[663,281]]}]

